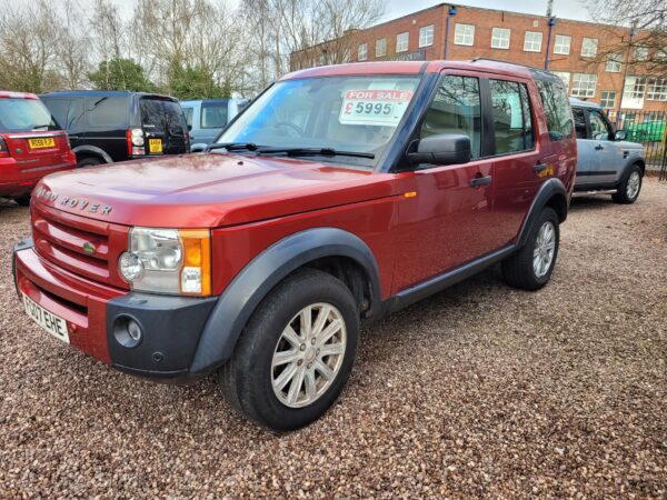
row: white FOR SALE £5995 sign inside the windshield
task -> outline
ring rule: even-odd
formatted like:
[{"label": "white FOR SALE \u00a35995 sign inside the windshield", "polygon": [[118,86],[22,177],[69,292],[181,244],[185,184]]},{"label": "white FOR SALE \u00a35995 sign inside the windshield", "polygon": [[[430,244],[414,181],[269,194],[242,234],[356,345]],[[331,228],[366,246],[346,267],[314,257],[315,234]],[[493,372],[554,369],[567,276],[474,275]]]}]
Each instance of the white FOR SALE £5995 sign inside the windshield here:
[{"label": "white FOR SALE \u00a35995 sign inside the windshield", "polygon": [[338,121],[341,124],[396,127],[410,99],[412,92],[407,90],[348,90]]}]

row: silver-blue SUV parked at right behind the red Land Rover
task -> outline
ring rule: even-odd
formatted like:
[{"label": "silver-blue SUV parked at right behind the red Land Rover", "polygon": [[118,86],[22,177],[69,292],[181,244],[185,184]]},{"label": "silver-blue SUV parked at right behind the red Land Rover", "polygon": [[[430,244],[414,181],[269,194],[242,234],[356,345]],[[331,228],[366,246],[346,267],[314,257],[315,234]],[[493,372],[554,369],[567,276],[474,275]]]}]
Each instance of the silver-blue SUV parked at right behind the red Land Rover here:
[{"label": "silver-blue SUV parked at right behind the red Land Rover", "polygon": [[577,129],[576,191],[615,191],[617,203],[634,203],[646,170],[644,147],[625,140],[599,104],[570,98]]}]

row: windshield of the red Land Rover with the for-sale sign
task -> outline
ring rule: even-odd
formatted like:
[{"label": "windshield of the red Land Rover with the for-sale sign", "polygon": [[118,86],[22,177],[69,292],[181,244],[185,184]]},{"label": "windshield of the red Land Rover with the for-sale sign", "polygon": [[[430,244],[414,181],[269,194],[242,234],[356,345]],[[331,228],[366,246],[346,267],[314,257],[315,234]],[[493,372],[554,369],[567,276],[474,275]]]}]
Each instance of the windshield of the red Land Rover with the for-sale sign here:
[{"label": "windshield of the red Land Rover with the for-sale sign", "polygon": [[[387,147],[419,78],[327,77],[279,81],[218,138],[261,148],[327,148],[370,153]],[[370,159],[346,162],[371,164]]]}]

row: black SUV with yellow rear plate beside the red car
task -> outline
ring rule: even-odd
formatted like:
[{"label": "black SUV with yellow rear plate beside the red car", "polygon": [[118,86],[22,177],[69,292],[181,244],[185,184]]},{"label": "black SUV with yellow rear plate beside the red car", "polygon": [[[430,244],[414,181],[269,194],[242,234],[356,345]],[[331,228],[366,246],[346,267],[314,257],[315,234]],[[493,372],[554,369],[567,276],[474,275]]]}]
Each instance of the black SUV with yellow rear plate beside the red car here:
[{"label": "black SUV with yellow rear plate beside the red car", "polygon": [[41,96],[69,133],[79,167],[190,151],[177,99],[153,93],[74,90]]}]

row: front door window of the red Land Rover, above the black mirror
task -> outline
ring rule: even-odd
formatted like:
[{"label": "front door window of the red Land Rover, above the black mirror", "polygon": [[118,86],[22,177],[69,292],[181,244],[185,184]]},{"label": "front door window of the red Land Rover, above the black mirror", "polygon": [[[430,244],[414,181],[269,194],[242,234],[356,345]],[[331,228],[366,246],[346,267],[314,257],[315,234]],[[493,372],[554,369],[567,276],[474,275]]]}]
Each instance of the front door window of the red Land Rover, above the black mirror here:
[{"label": "front door window of the red Land Rover, above the black mirror", "polygon": [[481,113],[479,80],[446,76],[421,126],[421,138],[459,133],[470,138],[470,154],[480,157]]}]

